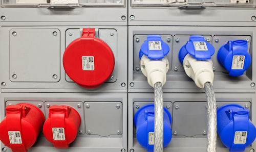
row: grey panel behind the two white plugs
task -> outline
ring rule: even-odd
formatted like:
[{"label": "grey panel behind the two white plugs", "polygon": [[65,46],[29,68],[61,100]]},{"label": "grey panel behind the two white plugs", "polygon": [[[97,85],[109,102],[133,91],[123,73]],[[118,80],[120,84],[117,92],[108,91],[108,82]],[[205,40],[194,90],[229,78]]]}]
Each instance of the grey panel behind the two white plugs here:
[{"label": "grey panel behind the two white plugs", "polygon": [[[212,56],[212,61],[217,69],[214,78],[215,92],[237,92],[237,93],[254,93],[255,88],[253,83],[256,81],[256,71],[252,70],[254,66],[255,56],[253,52],[255,48],[252,44],[255,43],[253,39],[256,34],[256,29],[253,27],[129,27],[129,92],[153,92],[153,88],[148,85],[146,77],[140,70],[134,70],[139,63],[139,48],[140,43],[134,40],[139,35],[172,35],[173,43],[170,50],[172,51],[172,58],[169,59],[172,68],[167,72],[166,84],[163,87],[163,92],[204,92],[203,89],[198,88],[193,80],[187,77],[183,67],[178,59],[178,53],[182,45],[189,40],[189,35],[204,35],[205,39],[212,43],[215,47],[215,55]],[[144,39],[141,36],[141,41]],[[218,38],[218,42],[215,39]],[[218,49],[221,45],[227,43],[229,40],[244,39],[248,40],[249,54],[252,62],[247,71],[240,77],[230,77],[224,68],[220,68],[217,61]],[[165,41],[165,39],[163,39]]]}]

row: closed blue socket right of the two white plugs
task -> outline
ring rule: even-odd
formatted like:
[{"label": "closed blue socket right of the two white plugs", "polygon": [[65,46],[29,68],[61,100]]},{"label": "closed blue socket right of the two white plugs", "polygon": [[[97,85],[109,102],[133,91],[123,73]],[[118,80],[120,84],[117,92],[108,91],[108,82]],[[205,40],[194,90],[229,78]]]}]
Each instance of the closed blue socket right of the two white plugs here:
[{"label": "closed blue socket right of the two white plugs", "polygon": [[229,75],[243,75],[251,64],[251,56],[247,52],[248,42],[246,40],[228,41],[219,49],[217,59],[219,63],[229,72]]}]

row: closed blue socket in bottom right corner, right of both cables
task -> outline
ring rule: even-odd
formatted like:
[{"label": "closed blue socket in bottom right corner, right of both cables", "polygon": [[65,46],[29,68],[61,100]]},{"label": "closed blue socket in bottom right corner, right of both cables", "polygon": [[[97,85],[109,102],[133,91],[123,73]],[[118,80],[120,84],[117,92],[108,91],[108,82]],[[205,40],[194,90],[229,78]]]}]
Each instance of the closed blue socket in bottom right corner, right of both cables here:
[{"label": "closed blue socket in bottom right corner, right of both cables", "polygon": [[218,134],[231,152],[244,151],[256,137],[256,128],[249,119],[249,110],[228,104],[217,110]]}]

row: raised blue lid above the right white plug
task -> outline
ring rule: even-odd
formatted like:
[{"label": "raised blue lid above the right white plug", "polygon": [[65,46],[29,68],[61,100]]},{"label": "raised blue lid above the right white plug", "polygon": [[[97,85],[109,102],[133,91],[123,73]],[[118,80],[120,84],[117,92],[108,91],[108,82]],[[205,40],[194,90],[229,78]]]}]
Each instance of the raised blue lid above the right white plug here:
[{"label": "raised blue lid above the right white plug", "polygon": [[183,60],[187,54],[195,57],[197,60],[210,59],[215,53],[215,48],[208,43],[201,35],[189,36],[189,41],[183,45],[179,52],[179,60],[183,63]]}]

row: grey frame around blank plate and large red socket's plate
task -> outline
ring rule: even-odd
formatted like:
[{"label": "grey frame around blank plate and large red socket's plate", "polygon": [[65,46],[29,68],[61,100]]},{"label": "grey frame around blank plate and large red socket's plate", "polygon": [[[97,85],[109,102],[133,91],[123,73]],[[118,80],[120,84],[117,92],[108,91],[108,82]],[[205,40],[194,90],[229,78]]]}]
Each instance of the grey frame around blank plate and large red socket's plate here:
[{"label": "grey frame around blank plate and large red socket's plate", "polygon": [[[117,59],[116,59],[116,81],[115,82],[107,82],[101,85],[98,88],[94,89],[86,89],[83,87],[80,87],[76,83],[70,83],[67,82],[65,79],[65,69],[62,65],[62,57],[63,53],[65,52],[66,48],[66,30],[68,29],[80,29],[80,28],[96,28],[96,29],[110,29],[108,26],[83,26],[83,27],[0,27],[0,82],[5,82],[5,86],[1,86],[2,92],[20,92],[20,89],[23,90],[23,92],[127,92],[127,27],[121,26],[121,27],[111,27],[112,30],[115,30],[117,32],[117,46],[113,46],[113,49],[117,50]],[[10,72],[9,72],[9,66],[10,66],[10,54],[9,54],[9,39],[6,39],[6,37],[9,37],[10,30],[11,29],[26,29],[26,30],[35,30],[35,29],[58,29],[60,36],[60,57],[54,58],[54,60],[58,61],[60,64],[60,74],[57,75],[58,79],[60,79],[57,83],[52,82],[12,82],[10,80]],[[108,34],[109,35],[109,34]],[[52,36],[52,35],[51,35]],[[103,36],[104,37],[104,36]],[[108,36],[106,36],[108,37]],[[104,37],[105,38],[105,37]],[[45,59],[47,60],[47,59]],[[44,66],[43,63],[38,63],[40,66]],[[50,71],[50,69],[49,69]],[[31,71],[33,73],[34,71]],[[36,75],[36,74],[35,74]],[[18,75],[17,75],[18,77]],[[33,74],[31,75],[33,77]],[[52,75],[51,75],[51,78]],[[122,86],[121,84],[124,83],[125,85]]]}]

